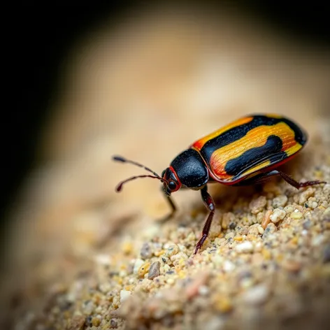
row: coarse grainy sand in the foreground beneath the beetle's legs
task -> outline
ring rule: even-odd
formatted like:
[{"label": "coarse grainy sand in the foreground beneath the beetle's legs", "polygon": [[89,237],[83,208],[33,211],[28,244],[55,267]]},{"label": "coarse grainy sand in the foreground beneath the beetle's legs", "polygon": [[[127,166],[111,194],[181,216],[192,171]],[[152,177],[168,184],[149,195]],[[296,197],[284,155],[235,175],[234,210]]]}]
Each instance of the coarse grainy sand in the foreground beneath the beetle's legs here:
[{"label": "coarse grainy sand in the foreground beneath the beetle's legs", "polygon": [[[330,157],[304,178],[330,182]],[[229,192],[230,193],[230,192]],[[310,329],[329,320],[330,185],[234,192],[194,255],[206,213],[151,223],[53,282],[17,329]],[[40,275],[40,274],[39,274]],[[24,324],[24,325],[23,325]],[[31,328],[27,327],[27,324]]]}]

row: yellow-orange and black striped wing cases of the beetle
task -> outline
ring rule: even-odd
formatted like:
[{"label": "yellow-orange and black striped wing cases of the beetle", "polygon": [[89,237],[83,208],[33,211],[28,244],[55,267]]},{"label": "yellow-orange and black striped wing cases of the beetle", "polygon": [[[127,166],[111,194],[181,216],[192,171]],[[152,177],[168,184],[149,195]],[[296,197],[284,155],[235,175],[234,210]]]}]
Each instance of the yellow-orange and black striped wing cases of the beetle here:
[{"label": "yellow-orange and black striped wing cases of the beetle", "polygon": [[201,153],[215,179],[234,183],[282,164],[306,141],[306,134],[285,117],[250,115],[201,138],[192,148]]}]

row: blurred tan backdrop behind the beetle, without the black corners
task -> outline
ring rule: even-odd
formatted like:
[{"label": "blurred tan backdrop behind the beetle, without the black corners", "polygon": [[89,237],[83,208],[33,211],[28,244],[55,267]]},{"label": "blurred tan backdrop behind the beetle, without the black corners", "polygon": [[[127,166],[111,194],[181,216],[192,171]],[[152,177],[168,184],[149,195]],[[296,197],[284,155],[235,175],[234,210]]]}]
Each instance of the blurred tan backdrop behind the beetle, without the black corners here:
[{"label": "blurred tan backdrop behind the beetle, without the black corners", "polygon": [[[90,31],[63,66],[41,166],[11,214],[12,269],[56,277],[68,255],[115,246],[126,220],[142,227],[167,212],[155,180],[115,193],[143,171],[112,155],[162,173],[190,143],[249,113],[285,114],[309,132],[306,150],[329,147],[329,64],[327,50],[225,8],[155,7]],[[199,194],[179,192],[175,201],[184,213]]]}]

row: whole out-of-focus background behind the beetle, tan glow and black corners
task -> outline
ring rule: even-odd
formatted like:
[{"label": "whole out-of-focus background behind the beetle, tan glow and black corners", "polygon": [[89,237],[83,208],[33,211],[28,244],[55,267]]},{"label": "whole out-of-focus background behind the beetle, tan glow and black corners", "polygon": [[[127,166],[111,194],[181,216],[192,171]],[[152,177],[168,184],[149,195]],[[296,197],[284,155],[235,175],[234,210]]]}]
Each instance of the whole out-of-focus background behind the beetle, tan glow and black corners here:
[{"label": "whole out-of-focus background behind the beetle, tan glow and black corners", "polygon": [[[131,217],[164,215],[155,180],[115,194],[143,171],[113,163],[114,154],[162,173],[196,139],[258,112],[302,124],[308,150],[329,147],[327,22],[317,3],[279,1],[17,10],[15,96],[1,131],[2,266],[27,274],[45,255],[84,257]],[[199,195],[175,199],[184,212]],[[43,278],[62,269],[43,263]]]}]

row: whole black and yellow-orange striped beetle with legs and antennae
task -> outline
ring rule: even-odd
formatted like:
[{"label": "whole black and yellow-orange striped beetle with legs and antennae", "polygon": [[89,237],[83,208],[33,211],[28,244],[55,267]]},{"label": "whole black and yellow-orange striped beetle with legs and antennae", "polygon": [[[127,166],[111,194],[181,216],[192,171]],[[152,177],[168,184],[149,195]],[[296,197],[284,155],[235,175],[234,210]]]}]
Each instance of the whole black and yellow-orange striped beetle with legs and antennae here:
[{"label": "whole black and yellow-orange striped beetle with legs and antennae", "polygon": [[200,190],[209,214],[201,239],[196,244],[196,254],[208,237],[215,213],[215,203],[208,193],[208,183],[253,185],[274,175],[279,175],[297,189],[327,183],[318,180],[298,182],[275,169],[296,156],[307,139],[306,132],[287,117],[275,114],[247,115],[192,143],[187,150],[172,160],[162,175],[124,157],[113,157],[117,162],[131,163],[152,173],[128,178],[117,185],[116,191],[120,192],[124,183],[136,178],[160,180],[166,200],[171,206],[171,213],[166,217],[168,219],[176,210],[171,199],[173,192],[181,187]]}]

